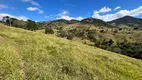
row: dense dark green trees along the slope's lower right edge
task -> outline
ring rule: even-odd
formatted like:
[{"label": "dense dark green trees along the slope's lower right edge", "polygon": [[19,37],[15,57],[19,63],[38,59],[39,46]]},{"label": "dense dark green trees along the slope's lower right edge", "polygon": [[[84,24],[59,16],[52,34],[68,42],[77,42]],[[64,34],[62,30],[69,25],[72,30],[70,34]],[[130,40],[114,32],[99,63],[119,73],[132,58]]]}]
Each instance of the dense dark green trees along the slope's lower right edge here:
[{"label": "dense dark green trees along the slope's lower right edge", "polygon": [[95,46],[109,50],[112,52],[127,55],[133,58],[142,59],[142,44],[141,43],[128,43],[127,41],[114,44],[114,41],[110,39],[107,40],[97,40],[95,41]]}]

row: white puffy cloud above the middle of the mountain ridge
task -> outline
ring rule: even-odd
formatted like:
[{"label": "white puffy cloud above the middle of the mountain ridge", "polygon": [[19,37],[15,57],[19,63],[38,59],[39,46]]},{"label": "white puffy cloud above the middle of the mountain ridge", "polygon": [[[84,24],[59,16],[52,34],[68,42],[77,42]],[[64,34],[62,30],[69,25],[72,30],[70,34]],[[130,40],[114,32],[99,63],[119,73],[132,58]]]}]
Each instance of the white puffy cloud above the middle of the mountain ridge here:
[{"label": "white puffy cloud above the middle of the mountain ridge", "polygon": [[82,20],[82,19],[84,19],[83,17],[80,17],[80,16],[79,17],[70,17],[70,16],[68,16],[68,14],[69,14],[69,12],[64,10],[57,15],[58,17],[56,19],[65,19],[65,20],[72,20],[72,19]]}]

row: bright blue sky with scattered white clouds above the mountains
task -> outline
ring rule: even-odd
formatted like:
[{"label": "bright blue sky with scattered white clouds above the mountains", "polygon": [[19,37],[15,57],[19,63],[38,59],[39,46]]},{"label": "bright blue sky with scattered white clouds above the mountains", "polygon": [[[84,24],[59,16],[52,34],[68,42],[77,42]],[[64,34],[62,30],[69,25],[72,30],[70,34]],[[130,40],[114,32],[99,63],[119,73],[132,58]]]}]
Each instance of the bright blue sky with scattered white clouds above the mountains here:
[{"label": "bright blue sky with scattered white clouds above the mountains", "polygon": [[111,21],[123,16],[142,18],[142,0],[0,0],[3,16],[48,21],[93,17]]}]

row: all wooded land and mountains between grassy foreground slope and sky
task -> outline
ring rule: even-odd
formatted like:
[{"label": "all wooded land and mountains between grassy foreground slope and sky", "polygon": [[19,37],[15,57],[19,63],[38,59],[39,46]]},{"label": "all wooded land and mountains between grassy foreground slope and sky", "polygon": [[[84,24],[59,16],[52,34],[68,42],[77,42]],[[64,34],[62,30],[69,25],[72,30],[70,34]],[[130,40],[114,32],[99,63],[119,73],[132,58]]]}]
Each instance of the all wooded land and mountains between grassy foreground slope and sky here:
[{"label": "all wooded land and mountains between grassy foreground slope and sky", "polygon": [[[45,29],[43,31],[45,34],[55,34],[69,40],[74,38],[82,41],[89,40],[93,44],[88,45],[142,59],[141,26],[135,26],[135,24],[141,25],[141,19],[125,16],[108,23],[94,18],[86,18],[82,21],[59,19],[36,23],[32,20],[21,21],[6,16],[3,20],[10,26],[32,31]],[[130,23],[133,25],[129,25]],[[125,41],[127,44],[123,44],[126,43]],[[86,44],[85,41],[83,43]]]}]

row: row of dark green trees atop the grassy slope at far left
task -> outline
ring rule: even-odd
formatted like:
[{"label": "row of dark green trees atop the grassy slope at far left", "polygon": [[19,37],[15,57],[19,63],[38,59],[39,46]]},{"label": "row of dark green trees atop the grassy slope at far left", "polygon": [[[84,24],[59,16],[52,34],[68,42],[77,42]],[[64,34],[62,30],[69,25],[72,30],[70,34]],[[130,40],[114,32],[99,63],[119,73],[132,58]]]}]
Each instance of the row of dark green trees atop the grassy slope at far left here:
[{"label": "row of dark green trees atop the grassy slope at far left", "polygon": [[5,22],[6,25],[9,26],[28,29],[32,31],[38,29],[36,22],[32,20],[23,21],[23,20],[18,20],[16,18],[10,18],[9,16],[3,17],[2,20],[3,22]]}]

